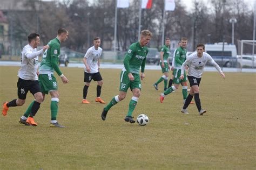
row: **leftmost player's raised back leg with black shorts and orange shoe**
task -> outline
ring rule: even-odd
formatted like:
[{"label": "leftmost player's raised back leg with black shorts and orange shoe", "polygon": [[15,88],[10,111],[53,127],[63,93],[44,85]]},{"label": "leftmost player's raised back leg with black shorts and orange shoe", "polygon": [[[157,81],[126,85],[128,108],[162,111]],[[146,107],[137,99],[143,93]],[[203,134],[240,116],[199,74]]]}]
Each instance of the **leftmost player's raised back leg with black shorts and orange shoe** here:
[{"label": "leftmost player's raised back leg with black shorts and orange shoe", "polygon": [[2,108],[2,115],[6,116],[8,109],[10,107],[17,107],[21,106],[25,103],[26,100],[26,94],[29,91],[28,88],[28,80],[23,80],[21,78],[18,79],[17,87],[18,87],[18,99],[14,99],[10,102],[4,102],[3,108]]}]

